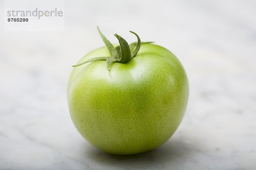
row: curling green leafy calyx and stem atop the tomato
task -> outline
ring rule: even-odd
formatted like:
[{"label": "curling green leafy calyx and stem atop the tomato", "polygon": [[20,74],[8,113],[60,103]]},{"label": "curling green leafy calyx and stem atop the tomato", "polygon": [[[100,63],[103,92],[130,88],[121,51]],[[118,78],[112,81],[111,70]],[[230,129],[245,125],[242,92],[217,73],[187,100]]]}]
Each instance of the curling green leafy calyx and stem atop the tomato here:
[{"label": "curling green leafy calyx and stem atop the tomato", "polygon": [[152,42],[141,42],[140,41],[140,37],[134,32],[134,31],[130,31],[132,34],[134,34],[138,41],[137,42],[133,42],[130,45],[128,45],[127,41],[125,41],[125,39],[123,39],[121,36],[119,36],[118,34],[114,34],[114,36],[117,38],[117,40],[119,41],[118,46],[116,46],[116,48],[111,44],[111,42],[108,41],[108,39],[102,34],[102,32],[99,30],[98,31],[99,34],[102,38],[102,40],[104,41],[105,45],[107,46],[109,52],[110,52],[110,57],[95,57],[95,58],[91,58],[88,59],[85,62],[81,62],[77,65],[72,65],[72,67],[77,67],[79,65],[83,65],[85,63],[88,62],[93,62],[93,61],[99,61],[99,60],[105,60],[107,61],[107,69],[108,71],[110,71],[110,65],[112,64],[112,62],[119,62],[119,63],[126,63],[129,62],[131,59],[133,59],[134,57],[136,57],[138,51],[140,50],[140,45],[141,44],[148,44],[148,43],[152,43]]}]

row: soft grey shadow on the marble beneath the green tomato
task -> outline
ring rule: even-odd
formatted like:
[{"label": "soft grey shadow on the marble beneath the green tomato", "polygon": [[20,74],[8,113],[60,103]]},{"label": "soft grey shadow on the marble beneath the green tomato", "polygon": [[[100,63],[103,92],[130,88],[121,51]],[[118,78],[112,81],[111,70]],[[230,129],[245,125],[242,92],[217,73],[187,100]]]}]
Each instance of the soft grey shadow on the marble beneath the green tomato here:
[{"label": "soft grey shadow on the marble beneath the green tomato", "polygon": [[[87,157],[101,166],[113,169],[165,169],[166,167],[183,164],[191,159],[195,152],[202,147],[201,142],[184,142],[173,136],[157,149],[131,156],[119,156],[105,153],[95,147],[87,148]],[[111,168],[110,168],[111,169]]]}]

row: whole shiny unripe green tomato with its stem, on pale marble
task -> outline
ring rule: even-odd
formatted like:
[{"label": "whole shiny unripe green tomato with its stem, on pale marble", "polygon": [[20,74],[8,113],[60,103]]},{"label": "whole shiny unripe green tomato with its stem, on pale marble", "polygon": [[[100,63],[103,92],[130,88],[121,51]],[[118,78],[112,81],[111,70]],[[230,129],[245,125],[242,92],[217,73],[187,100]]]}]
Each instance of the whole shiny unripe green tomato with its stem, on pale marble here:
[{"label": "whole shiny unripe green tomato with its stem, on pale marble", "polygon": [[[189,96],[179,60],[159,45],[107,46],[85,55],[68,84],[70,116],[81,135],[107,153],[131,155],[166,142],[183,118]],[[107,68],[106,68],[107,65]]]}]

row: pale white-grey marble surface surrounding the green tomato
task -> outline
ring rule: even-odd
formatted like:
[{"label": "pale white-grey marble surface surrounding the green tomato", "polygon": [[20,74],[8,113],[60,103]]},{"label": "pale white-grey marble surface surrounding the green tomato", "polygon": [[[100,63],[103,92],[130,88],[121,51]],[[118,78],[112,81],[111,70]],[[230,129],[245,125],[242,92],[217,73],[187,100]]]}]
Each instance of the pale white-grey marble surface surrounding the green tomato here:
[{"label": "pale white-grey marble surface surrounding the green tomato", "polygon": [[[1,10],[3,2],[1,1]],[[65,1],[65,31],[0,28],[0,170],[255,170],[256,1]],[[3,17],[1,16],[1,23]],[[161,147],[115,156],[74,127],[71,65],[136,31],[171,50],[189,77],[183,122]]]}]

